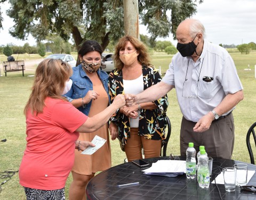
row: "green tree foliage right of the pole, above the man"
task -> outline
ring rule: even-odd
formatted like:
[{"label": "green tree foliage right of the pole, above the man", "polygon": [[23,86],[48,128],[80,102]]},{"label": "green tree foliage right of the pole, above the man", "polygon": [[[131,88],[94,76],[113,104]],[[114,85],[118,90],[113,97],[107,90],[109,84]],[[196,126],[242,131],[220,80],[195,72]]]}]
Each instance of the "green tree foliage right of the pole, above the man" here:
[{"label": "green tree foliage right of the pole, above the man", "polygon": [[[173,34],[175,39],[179,23],[196,13],[196,2],[203,3],[203,0],[139,1],[140,19],[143,25],[148,26],[151,44],[155,43],[157,37],[165,38],[169,34]],[[170,16],[168,13],[171,13]]]}]

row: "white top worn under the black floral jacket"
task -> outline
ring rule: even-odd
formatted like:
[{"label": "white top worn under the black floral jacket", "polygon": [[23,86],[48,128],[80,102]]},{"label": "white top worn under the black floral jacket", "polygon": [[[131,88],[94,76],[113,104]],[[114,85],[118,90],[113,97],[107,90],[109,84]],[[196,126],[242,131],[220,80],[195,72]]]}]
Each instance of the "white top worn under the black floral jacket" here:
[{"label": "white top worn under the black floral jacket", "polygon": [[[124,92],[125,94],[139,94],[144,90],[143,86],[143,74],[137,79],[134,80],[124,80],[123,79],[123,84],[124,84]],[[138,118],[133,119],[130,118],[130,127],[131,128],[138,128],[139,127],[139,119],[140,119],[140,111],[138,112]]]}]

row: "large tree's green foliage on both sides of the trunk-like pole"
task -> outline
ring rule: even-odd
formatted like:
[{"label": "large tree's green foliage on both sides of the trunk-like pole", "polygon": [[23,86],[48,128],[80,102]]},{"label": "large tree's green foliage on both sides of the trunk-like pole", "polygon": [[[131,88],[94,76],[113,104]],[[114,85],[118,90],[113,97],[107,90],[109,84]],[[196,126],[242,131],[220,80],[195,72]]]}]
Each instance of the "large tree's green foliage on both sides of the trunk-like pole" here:
[{"label": "large tree's green foliage on both sides of the trunk-like pole", "polygon": [[[5,2],[6,0],[2,0]],[[25,39],[31,34],[37,41],[58,34],[68,40],[72,35],[76,49],[86,39],[99,41],[105,49],[110,40],[124,35],[122,0],[81,1],[9,1],[7,11],[14,26],[10,34]],[[196,13],[197,2],[203,0],[139,0],[139,17],[148,26],[151,43],[156,37],[174,34],[178,24]]]}]

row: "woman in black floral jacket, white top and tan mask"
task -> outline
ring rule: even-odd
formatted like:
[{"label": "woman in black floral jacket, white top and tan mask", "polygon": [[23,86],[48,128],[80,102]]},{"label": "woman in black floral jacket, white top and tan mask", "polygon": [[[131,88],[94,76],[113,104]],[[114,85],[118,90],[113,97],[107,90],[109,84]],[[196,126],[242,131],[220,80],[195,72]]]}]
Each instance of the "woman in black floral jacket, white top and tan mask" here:
[{"label": "woman in black floral jacket, white top and tan mask", "polygon": [[[116,69],[109,74],[111,102],[118,94],[138,94],[161,81],[161,76],[149,62],[146,46],[137,38],[119,39],[114,62]],[[154,102],[122,107],[112,116],[118,127],[118,139],[128,161],[160,156],[165,139],[167,95]]]}]

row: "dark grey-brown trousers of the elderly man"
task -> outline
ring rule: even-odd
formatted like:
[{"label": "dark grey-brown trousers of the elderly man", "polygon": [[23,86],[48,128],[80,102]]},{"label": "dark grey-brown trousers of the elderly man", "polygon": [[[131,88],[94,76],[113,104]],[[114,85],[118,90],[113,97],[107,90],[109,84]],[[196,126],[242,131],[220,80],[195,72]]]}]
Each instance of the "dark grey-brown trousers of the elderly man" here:
[{"label": "dark grey-brown trousers of the elderly man", "polygon": [[180,129],[180,155],[186,156],[188,143],[194,143],[196,152],[199,146],[205,146],[205,151],[209,157],[231,159],[234,141],[235,127],[233,114],[226,118],[213,121],[210,129],[204,132],[194,132],[195,122],[188,121],[184,117],[181,121]]}]

